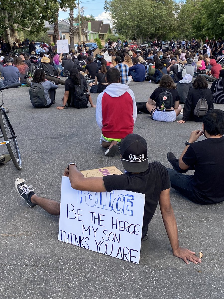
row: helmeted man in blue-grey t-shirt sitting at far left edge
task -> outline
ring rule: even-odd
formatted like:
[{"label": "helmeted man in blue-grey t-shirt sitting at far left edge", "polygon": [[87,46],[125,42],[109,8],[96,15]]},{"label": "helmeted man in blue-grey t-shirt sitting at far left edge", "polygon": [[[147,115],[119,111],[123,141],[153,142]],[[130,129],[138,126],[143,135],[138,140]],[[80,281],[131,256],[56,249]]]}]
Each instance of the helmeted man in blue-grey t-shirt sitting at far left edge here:
[{"label": "helmeted man in blue-grey t-shirt sitting at far left edge", "polygon": [[19,69],[13,66],[13,58],[6,57],[5,62],[7,66],[2,68],[0,79],[0,87],[4,87],[7,85],[15,84],[20,82],[20,73]]}]

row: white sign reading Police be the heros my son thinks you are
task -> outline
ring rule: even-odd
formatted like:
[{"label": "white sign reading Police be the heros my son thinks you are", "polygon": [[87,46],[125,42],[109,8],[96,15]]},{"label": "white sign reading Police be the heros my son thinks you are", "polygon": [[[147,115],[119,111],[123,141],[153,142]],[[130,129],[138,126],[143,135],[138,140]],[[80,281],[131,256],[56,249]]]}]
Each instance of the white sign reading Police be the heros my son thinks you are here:
[{"label": "white sign reading Police be the heros my son thinks you are", "polygon": [[139,263],[145,194],[72,189],[62,177],[58,240]]}]

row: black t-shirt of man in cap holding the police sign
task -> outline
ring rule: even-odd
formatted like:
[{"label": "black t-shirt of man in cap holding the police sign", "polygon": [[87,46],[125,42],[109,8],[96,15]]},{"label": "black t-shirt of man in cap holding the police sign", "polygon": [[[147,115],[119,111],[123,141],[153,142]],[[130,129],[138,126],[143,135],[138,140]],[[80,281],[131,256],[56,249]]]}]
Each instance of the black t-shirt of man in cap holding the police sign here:
[{"label": "black t-shirt of man in cap holding the police sign", "polygon": [[143,227],[148,226],[158,205],[162,190],[170,188],[167,169],[159,162],[149,163],[148,170],[139,174],[121,174],[104,176],[103,181],[108,192],[128,190],[145,194]]}]

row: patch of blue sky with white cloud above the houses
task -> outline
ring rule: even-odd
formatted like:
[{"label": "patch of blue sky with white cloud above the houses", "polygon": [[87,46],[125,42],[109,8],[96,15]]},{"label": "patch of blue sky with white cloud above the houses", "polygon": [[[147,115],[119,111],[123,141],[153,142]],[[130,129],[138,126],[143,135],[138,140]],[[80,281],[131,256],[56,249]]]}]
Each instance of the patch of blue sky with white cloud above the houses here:
[{"label": "patch of blue sky with white cloud above the houses", "polygon": [[[103,9],[104,0],[83,0],[80,1],[80,7],[84,7],[84,14],[90,15],[92,14],[96,20],[102,20],[104,24],[110,23],[112,27],[112,22],[108,13],[106,13]],[[78,7],[74,10],[74,16],[78,13]],[[59,10],[59,19],[67,19],[69,16],[68,11]]]}]

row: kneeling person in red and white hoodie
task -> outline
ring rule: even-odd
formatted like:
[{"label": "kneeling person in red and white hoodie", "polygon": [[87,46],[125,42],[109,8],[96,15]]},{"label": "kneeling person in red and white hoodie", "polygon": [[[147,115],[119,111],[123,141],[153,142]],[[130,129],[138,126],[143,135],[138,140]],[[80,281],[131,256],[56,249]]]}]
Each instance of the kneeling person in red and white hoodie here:
[{"label": "kneeling person in red and white hoodie", "polygon": [[110,68],[105,80],[108,86],[96,101],[96,122],[102,130],[100,144],[109,147],[105,156],[113,157],[118,151],[117,143],[133,133],[137,107],[133,91],[120,83],[120,71]]}]

